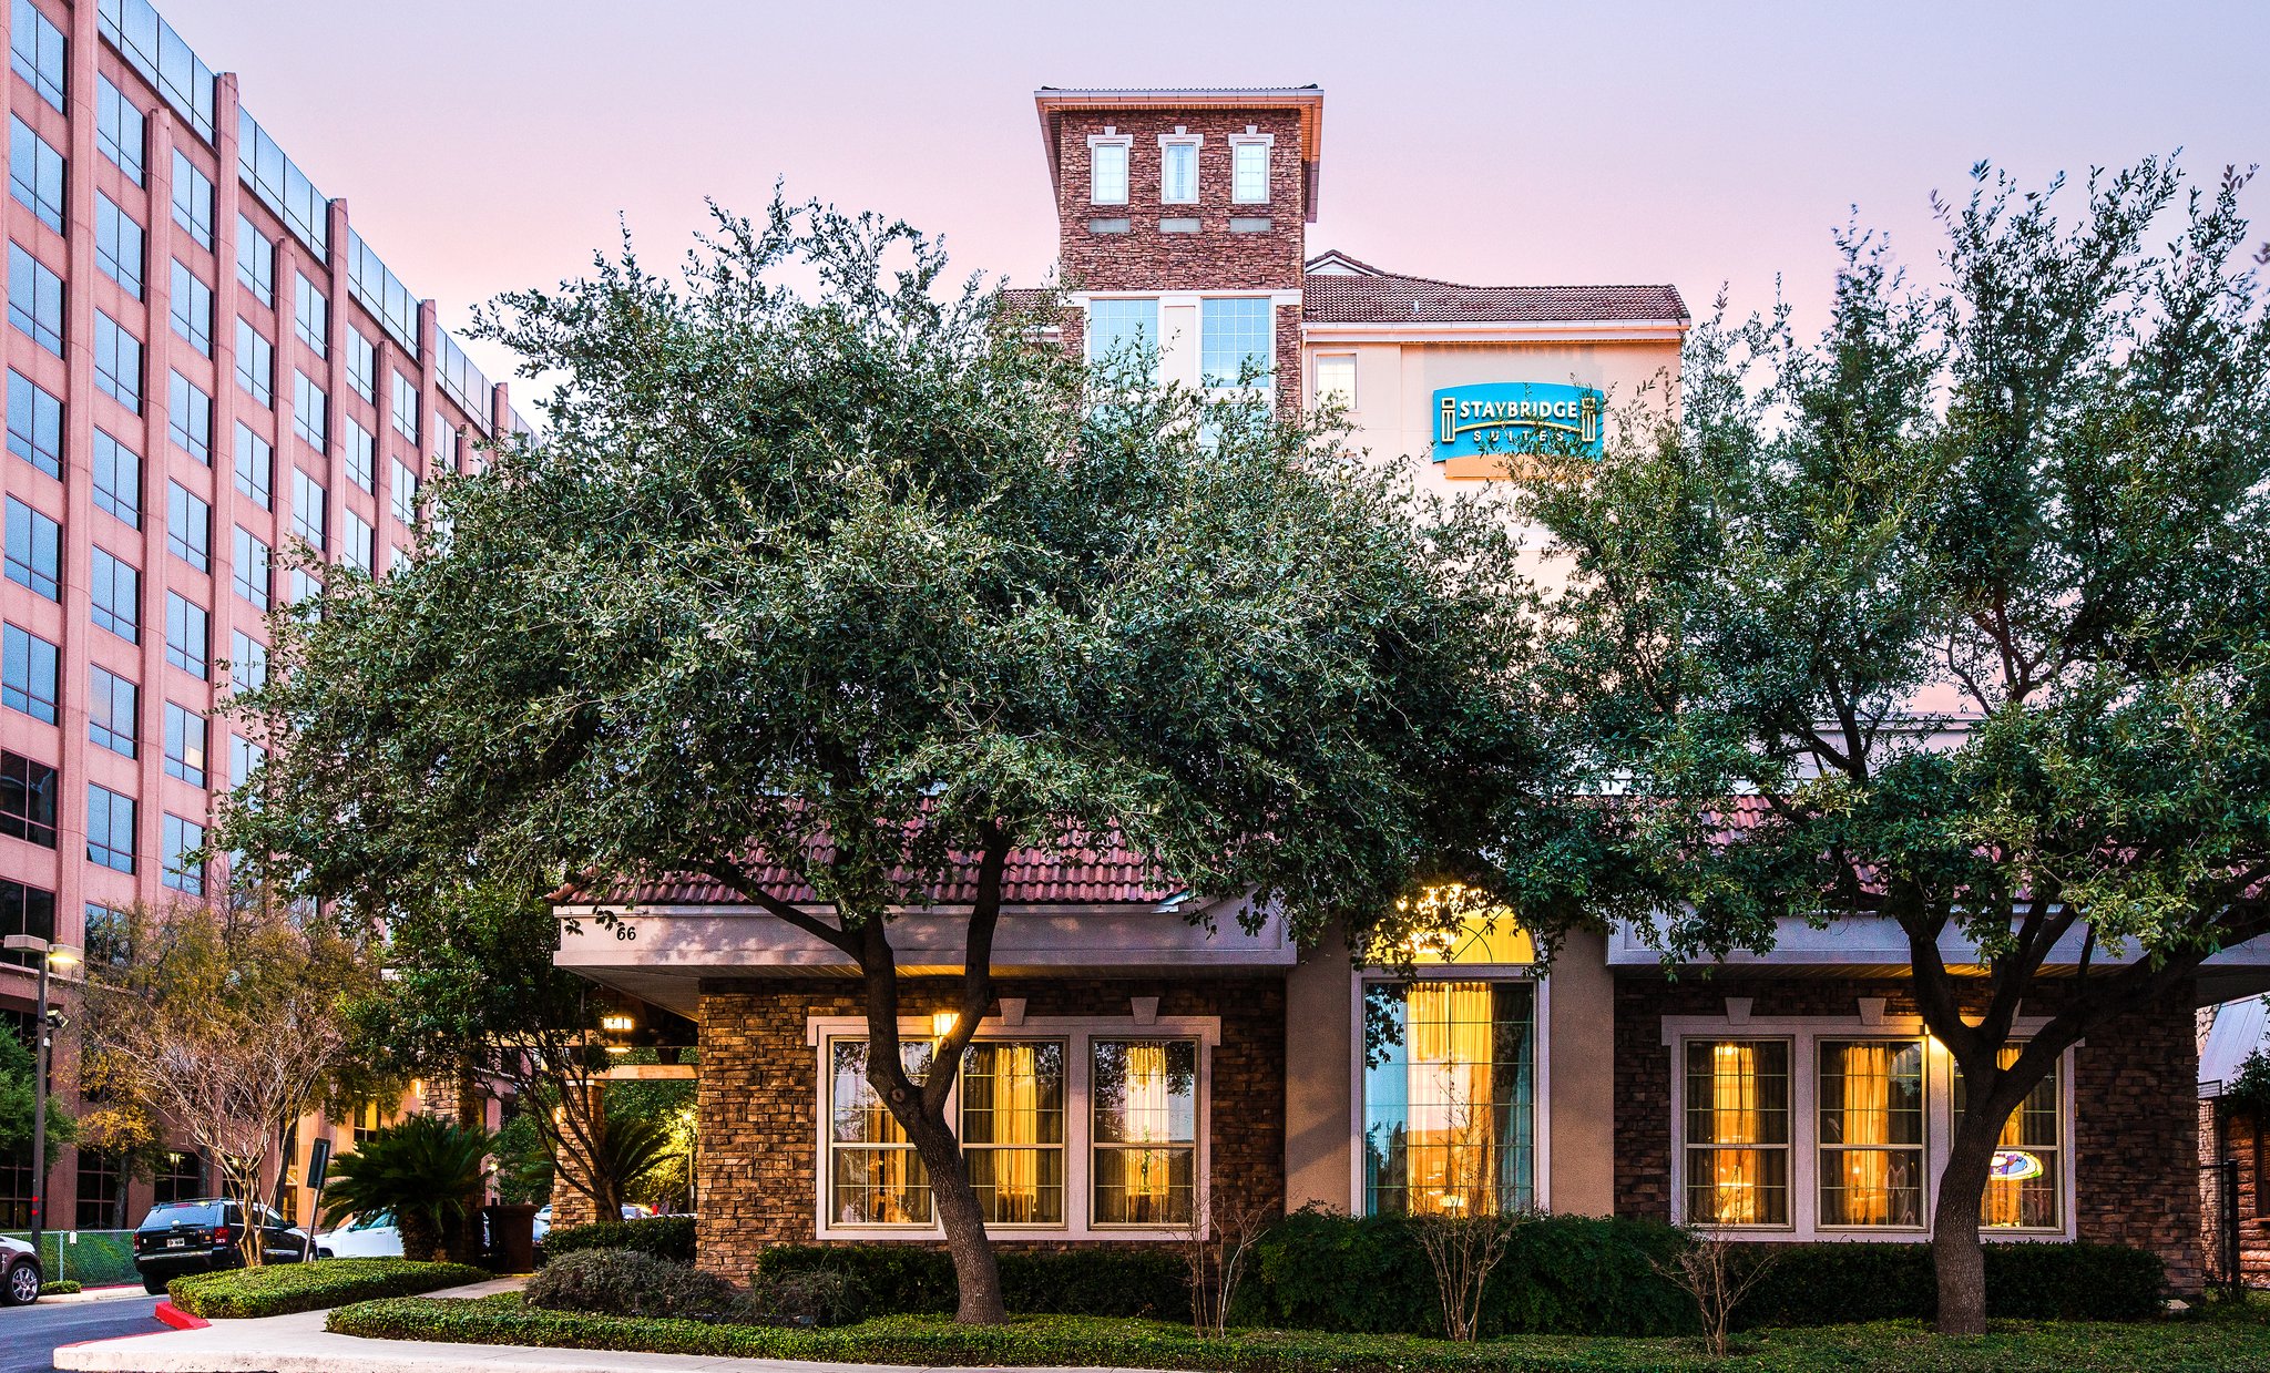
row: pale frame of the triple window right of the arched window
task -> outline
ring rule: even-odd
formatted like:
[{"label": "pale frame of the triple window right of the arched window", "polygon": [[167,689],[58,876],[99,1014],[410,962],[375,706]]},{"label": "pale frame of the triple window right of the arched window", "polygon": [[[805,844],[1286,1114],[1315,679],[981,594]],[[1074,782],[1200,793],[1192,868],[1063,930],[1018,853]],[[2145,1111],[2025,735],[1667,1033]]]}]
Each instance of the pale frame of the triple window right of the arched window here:
[{"label": "pale frame of the triple window right of the arched window", "polygon": [[[1748,1001],[1727,999],[1727,1014],[1666,1014],[1662,1042],[1671,1060],[1671,1223],[1687,1223],[1687,1042],[1689,1039],[1786,1039],[1789,1042],[1789,1223],[1786,1225],[1716,1225],[1727,1239],[1764,1241],[1839,1241],[1882,1239],[1889,1244],[1927,1244],[1930,1216],[1939,1203],[1939,1176],[1948,1166],[1954,1139],[1954,1055],[1932,1037],[1916,1014],[1884,1014],[1880,999],[1859,999],[1852,1017],[1750,1017]],[[2048,1017],[2020,1017],[2011,1039],[2023,1042],[2048,1026]],[[1825,1039],[1923,1039],[1923,1225],[1823,1225],[1821,1216],[1821,1042]],[[2075,1232],[2077,1157],[2075,1157],[2075,1044],[2057,1060],[2057,1216],[2050,1230],[1979,1225],[1982,1239],[2070,1241]]]}]

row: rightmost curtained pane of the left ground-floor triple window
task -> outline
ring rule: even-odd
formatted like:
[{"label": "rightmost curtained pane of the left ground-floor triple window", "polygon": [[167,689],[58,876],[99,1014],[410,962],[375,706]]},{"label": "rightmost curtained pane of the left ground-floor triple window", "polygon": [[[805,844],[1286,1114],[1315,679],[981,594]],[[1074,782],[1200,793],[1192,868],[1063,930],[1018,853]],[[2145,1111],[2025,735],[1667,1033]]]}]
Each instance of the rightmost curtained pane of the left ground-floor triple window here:
[{"label": "rightmost curtained pane of the left ground-floor triple window", "polygon": [[1187,1225],[1199,1187],[1199,1044],[1096,1039],[1090,1221]]}]

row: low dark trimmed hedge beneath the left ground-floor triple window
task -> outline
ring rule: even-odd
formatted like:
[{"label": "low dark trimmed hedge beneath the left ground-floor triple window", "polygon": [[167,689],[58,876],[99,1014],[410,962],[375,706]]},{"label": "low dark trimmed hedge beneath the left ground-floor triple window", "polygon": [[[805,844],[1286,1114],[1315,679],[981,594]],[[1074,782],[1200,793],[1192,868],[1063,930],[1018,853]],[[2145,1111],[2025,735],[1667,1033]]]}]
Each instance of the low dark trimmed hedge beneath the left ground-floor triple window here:
[{"label": "low dark trimmed hedge beneath the left ground-floor triple window", "polygon": [[[1189,1319],[1189,1273],[1174,1246],[997,1248],[1001,1300],[1019,1314]],[[953,1257],[910,1244],[776,1244],[756,1260],[756,1284],[797,1273],[842,1273],[874,1316],[931,1316],[956,1307]]]}]

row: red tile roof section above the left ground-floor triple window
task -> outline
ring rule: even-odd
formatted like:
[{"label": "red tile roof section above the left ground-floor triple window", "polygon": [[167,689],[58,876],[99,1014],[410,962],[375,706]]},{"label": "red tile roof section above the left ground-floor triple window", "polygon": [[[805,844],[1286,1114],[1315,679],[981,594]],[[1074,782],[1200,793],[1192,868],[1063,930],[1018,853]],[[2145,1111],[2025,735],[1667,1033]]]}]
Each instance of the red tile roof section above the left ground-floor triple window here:
[{"label": "red tile roof section above the left ground-floor triple window", "polygon": [[[813,865],[833,858],[829,840],[813,844]],[[928,905],[969,905],[976,901],[976,858],[956,856],[956,871],[944,883],[933,885]],[[774,896],[815,905],[819,894],[788,865],[758,856],[751,862],[756,885]],[[892,874],[906,881],[903,871]],[[1094,846],[1010,849],[1008,869],[1001,874],[1001,901],[1006,905],[1158,905],[1180,892],[1146,858],[1105,835]],[[749,901],[724,883],[701,874],[670,874],[656,881],[615,887],[608,892],[586,892],[570,887],[552,896],[558,903],[583,905],[747,905]]]}]

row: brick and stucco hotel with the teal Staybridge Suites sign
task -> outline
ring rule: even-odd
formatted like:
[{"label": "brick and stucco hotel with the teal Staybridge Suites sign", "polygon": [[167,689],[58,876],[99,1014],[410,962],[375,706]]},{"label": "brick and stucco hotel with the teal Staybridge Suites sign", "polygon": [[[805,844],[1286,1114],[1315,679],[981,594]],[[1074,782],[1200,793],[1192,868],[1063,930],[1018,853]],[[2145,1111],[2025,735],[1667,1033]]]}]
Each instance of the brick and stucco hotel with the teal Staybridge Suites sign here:
[{"label": "brick and stucco hotel with the teal Staybridge Suites sign", "polygon": [[[1171,381],[1262,372],[1280,406],[1337,399],[1362,447],[1439,486],[1503,477],[1478,431],[1598,443],[1609,408],[1675,395],[1689,320],[1671,286],[1457,286],[1312,254],[1314,86],[1042,89],[1035,107],[1069,347],[1142,338]],[[792,874],[767,881],[826,910]],[[1403,985],[1351,967],[1339,940],[1205,919],[1239,899],[1176,890],[1137,853],[1010,858],[999,1001],[956,1107],[997,1239],[1171,1239],[1208,1187],[1355,1214],[1539,1205],[1762,1241],[1927,1239],[1961,1083],[1886,921],[1786,928],[1707,978],[1668,978],[1630,930],[1575,935],[1537,976],[1519,930],[1476,928]],[[951,1005],[967,901],[951,885],[892,926],[910,1039]],[[701,878],[611,905],[636,940],[592,910],[561,908],[586,919],[563,924],[558,962],[701,1051],[704,1266],[740,1278],[776,1241],[940,1239],[865,1083],[838,951]],[[2191,994],[2070,1051],[2004,1132],[1989,1237],[2134,1244],[2195,1287],[2193,1008],[2263,987],[2270,953],[2234,949]],[[1382,1062],[1364,1055],[1367,1003],[1401,1026]]]}]

